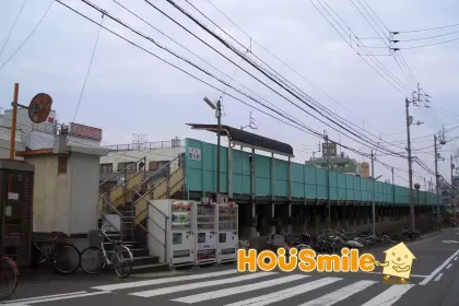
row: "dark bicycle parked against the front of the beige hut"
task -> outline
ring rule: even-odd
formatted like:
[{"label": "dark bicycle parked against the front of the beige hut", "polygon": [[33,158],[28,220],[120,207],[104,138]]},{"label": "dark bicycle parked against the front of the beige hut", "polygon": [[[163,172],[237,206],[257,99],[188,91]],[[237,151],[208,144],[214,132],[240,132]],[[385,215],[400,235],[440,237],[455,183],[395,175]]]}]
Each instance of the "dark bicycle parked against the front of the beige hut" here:
[{"label": "dark bicycle parked against the front of the beige hut", "polygon": [[71,274],[80,268],[81,254],[78,248],[62,242],[58,236],[52,239],[35,236],[32,245],[37,251],[36,264],[48,261],[61,274]]}]

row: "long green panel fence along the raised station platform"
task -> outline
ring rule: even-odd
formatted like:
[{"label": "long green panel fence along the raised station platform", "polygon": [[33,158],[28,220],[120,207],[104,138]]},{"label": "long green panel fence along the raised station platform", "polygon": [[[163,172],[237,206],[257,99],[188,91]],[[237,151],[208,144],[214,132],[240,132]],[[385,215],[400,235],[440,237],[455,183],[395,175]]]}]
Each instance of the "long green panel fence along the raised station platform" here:
[{"label": "long green panel fence along the raised station platform", "polygon": [[[195,139],[186,139],[186,188],[187,191],[216,191],[216,145]],[[232,149],[233,193],[250,195],[249,153]],[[255,155],[256,196],[289,197],[289,162],[270,156]],[[271,188],[271,173],[275,183]],[[291,193],[296,199],[328,199],[348,201],[372,201],[372,180],[367,178],[330,172],[327,186],[327,170],[314,166],[291,163]],[[228,187],[228,150],[221,149],[221,192]],[[273,189],[273,190],[271,190]],[[416,190],[414,200],[416,201]],[[420,191],[420,203],[436,204],[436,195]],[[375,199],[379,203],[405,205],[409,189],[387,183],[375,183]]]}]

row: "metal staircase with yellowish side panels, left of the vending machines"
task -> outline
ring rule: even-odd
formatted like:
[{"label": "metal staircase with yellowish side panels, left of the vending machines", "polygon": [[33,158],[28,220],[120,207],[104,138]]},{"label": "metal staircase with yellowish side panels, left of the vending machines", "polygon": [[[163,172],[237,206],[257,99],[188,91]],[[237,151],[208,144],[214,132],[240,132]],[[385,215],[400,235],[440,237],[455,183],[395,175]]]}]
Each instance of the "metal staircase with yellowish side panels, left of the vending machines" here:
[{"label": "metal staircase with yellowish side panels, left of the vending machines", "polygon": [[[183,167],[178,166],[180,156],[177,156],[168,164],[149,175],[144,169],[132,173],[131,169],[139,168],[137,165],[146,165],[146,158],[143,157],[101,183],[102,187],[115,178],[119,181],[108,192],[99,195],[98,213],[101,224],[107,224],[109,226],[107,231],[109,239],[121,243],[131,249],[134,256],[132,273],[146,273],[167,270],[169,268],[168,263],[164,262],[165,255],[161,255],[163,262],[160,262],[160,255],[154,254],[154,250],[149,250],[149,236],[160,242],[165,249],[167,239],[165,228],[162,237],[155,237],[148,231],[146,208],[151,205],[149,202],[149,199],[153,199],[151,197],[155,197],[156,195],[157,197],[167,198],[173,195],[170,192],[176,192],[181,188],[178,188],[180,183],[177,179],[178,173],[181,173],[181,176],[184,174]],[[172,168],[174,168],[173,172],[170,172]],[[181,170],[179,170],[180,168]],[[128,176],[129,173],[132,175]],[[158,176],[164,175],[166,177],[158,178]],[[143,209],[138,209],[138,205],[143,207]],[[138,212],[142,217],[138,215]],[[168,217],[166,215],[164,217],[165,224],[167,224]],[[109,239],[104,240],[106,249],[113,248],[113,243]]]}]

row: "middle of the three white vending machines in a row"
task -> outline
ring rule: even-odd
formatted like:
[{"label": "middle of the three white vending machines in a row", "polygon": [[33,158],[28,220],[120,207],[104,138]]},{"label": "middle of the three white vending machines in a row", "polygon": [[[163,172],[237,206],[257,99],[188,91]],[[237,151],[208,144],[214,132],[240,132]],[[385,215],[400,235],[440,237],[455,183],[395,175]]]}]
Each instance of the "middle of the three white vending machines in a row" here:
[{"label": "middle of the three white vending machines in a row", "polygon": [[196,264],[216,262],[215,204],[195,203]]}]

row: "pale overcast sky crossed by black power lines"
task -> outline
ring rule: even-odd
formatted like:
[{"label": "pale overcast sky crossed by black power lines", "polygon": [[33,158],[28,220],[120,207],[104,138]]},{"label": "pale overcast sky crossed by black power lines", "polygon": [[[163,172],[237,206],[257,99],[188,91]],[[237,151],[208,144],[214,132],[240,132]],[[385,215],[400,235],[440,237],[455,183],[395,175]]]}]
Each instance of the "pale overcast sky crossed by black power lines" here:
[{"label": "pale overcast sky crossed by black power lines", "polygon": [[[192,60],[214,73],[215,76],[222,78],[225,82],[231,79],[227,75],[234,75],[234,81],[231,84],[242,89],[250,96],[260,101],[260,97],[262,97],[267,101],[263,102],[264,104],[273,104],[307,127],[319,132],[327,129],[331,139],[369,153],[369,148],[349,139],[346,136],[353,136],[308,108],[302,101],[243,61],[240,57],[192,23],[167,1],[150,0],[158,9],[169,14],[229,60],[240,64],[247,72],[257,76],[268,86],[261,84],[242,69],[236,69],[236,66],[191,36],[144,0],[118,1],[226,75],[170,42],[113,0],[92,0],[93,3],[106,10],[109,14],[119,17],[122,22],[180,56]],[[366,11],[363,7],[360,7],[361,4],[365,5],[364,0],[330,0],[327,1],[328,7],[323,0],[320,1],[323,7],[320,7],[318,0],[314,0],[313,2],[326,16],[328,16],[327,11],[329,13],[334,11],[339,15],[340,19],[337,15],[334,19],[341,22],[345,30],[345,32],[342,31],[343,36],[340,36],[315,5],[307,0],[211,0],[237,26],[222,15],[208,0],[189,1],[245,46],[246,49],[250,48],[250,38],[247,36],[249,35],[251,37],[251,55],[248,54],[249,58],[256,59],[258,57],[269,63],[283,78],[327,107],[333,116],[340,116],[352,122],[354,126],[351,127],[356,129],[356,133],[361,134],[366,131],[380,137],[382,140],[379,141],[384,146],[402,154],[405,154],[403,148],[407,139],[404,98],[414,90],[413,81],[409,76],[407,66],[399,56],[400,52],[396,58],[388,56],[389,50],[385,45],[388,40],[386,37],[388,30],[380,25],[380,28],[385,32],[380,31],[379,35],[385,40],[372,38],[378,37],[378,35],[354,4],[372,22],[369,15],[366,14],[366,12],[372,13],[370,8],[392,32],[455,24],[458,23],[459,12],[457,0],[366,0],[369,5],[369,8],[365,7]],[[62,0],[62,2],[101,22],[102,14],[83,2],[79,0]],[[7,43],[8,35],[23,3],[23,0],[0,0],[0,48]],[[75,122],[102,128],[104,130],[104,144],[130,143],[134,132],[148,133],[149,141],[169,140],[177,136],[214,142],[214,134],[192,131],[185,123],[215,122],[213,111],[203,103],[202,97],[208,96],[211,99],[217,99],[223,94],[220,90],[224,90],[225,85],[160,49],[151,42],[133,34],[107,16],[104,17],[103,24],[108,28],[220,90],[200,83],[151,54],[102,30],[86,86],[76,111],[99,27],[58,2],[51,4],[35,33],[11,57],[37,25],[50,3],[51,0],[27,0],[13,27],[11,37],[4,48],[0,49],[2,50],[0,54],[1,107],[9,108],[13,96],[13,84],[19,82],[21,84],[20,103],[28,104],[35,94],[39,92],[48,93],[54,98],[52,107],[57,111],[60,122],[73,121],[75,117]],[[243,50],[238,43],[217,30],[187,1],[176,0],[176,3],[201,20],[219,35],[222,35],[236,48]],[[333,22],[330,16],[328,19]],[[334,26],[340,30],[337,25]],[[373,25],[373,27],[379,30],[376,25]],[[437,31],[401,33],[396,35],[395,39],[401,40],[398,44],[399,48],[421,46],[458,38],[459,33],[427,38],[455,31],[459,31],[459,26]],[[350,35],[350,33],[352,34]],[[361,39],[357,40],[355,36]],[[356,50],[360,48],[357,44],[372,47],[362,48],[364,51],[361,51],[361,55],[370,51],[376,57],[357,55]],[[422,149],[413,154],[432,169],[434,169],[433,133],[438,131],[442,125],[445,125],[445,129],[450,129],[446,133],[447,139],[459,134],[459,128],[454,129],[459,126],[459,105],[457,104],[459,96],[459,86],[457,85],[459,83],[457,73],[459,69],[458,46],[459,40],[431,47],[405,49],[401,54],[415,81],[419,81],[422,90],[431,96],[432,108],[411,107],[414,120],[424,122],[424,125],[413,126],[411,129],[413,149]],[[271,54],[296,72],[284,66]],[[367,62],[372,63],[379,73]],[[399,64],[403,68],[403,72]],[[387,72],[391,76],[388,76]],[[405,85],[400,87],[400,91],[396,91],[381,75],[392,84],[404,83]],[[248,87],[252,93],[240,84]],[[232,89],[227,89],[226,93],[280,117]],[[340,130],[341,133],[292,105],[287,99],[314,114],[334,129]],[[303,163],[308,160],[311,152],[317,151],[317,145],[321,141],[254,110],[227,95],[223,95],[223,104],[225,115],[223,121],[225,125],[237,128],[247,126],[249,123],[249,111],[252,110],[252,117],[258,128],[256,132],[292,144],[296,162]],[[321,113],[327,115],[323,110]],[[330,115],[327,116],[331,117]],[[366,133],[366,137],[377,141],[372,134]],[[360,141],[367,143],[366,139],[361,138]],[[397,141],[397,146],[385,141]],[[458,144],[458,141],[450,141],[447,145],[440,148],[440,154],[446,160],[439,162],[439,169],[442,175],[447,178],[450,175],[449,155],[451,152],[456,152]],[[368,161],[368,158],[358,156],[348,150],[343,151],[358,161]],[[381,155],[381,153],[377,153],[377,157],[384,163],[404,170],[396,169],[396,184],[407,185],[407,160]],[[378,163],[375,164],[375,176],[382,174],[382,178],[391,178],[390,172]],[[419,181],[422,186],[423,177],[426,177],[427,180],[431,177],[434,179],[432,175],[417,165],[414,166],[414,183]],[[398,176],[401,176],[401,178]]]}]

